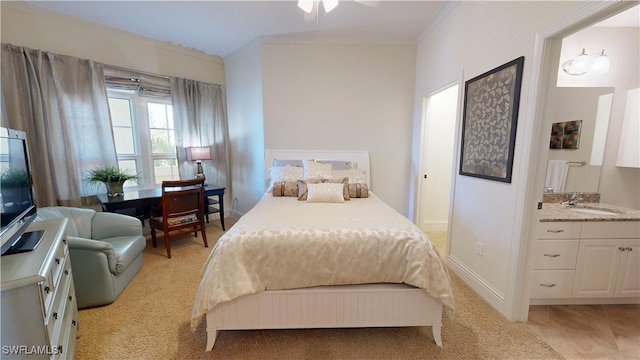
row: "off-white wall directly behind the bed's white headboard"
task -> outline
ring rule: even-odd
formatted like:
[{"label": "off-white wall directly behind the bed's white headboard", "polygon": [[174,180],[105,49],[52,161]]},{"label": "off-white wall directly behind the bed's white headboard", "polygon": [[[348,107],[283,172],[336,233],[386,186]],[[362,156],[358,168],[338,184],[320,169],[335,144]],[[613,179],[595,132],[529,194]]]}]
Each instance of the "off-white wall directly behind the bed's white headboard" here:
[{"label": "off-white wall directly behind the bed's white headboard", "polygon": [[268,149],[368,150],[371,189],[408,210],[415,46],[262,44]]}]

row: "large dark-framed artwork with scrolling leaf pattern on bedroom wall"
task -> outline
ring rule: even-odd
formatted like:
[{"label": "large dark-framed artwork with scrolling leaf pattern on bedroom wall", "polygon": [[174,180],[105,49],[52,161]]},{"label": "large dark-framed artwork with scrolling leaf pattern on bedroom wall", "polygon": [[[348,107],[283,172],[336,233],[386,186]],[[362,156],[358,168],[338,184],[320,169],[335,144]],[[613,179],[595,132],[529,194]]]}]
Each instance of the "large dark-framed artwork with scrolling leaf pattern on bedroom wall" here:
[{"label": "large dark-framed artwork with scrolling leaf pattern on bedroom wall", "polygon": [[524,56],[465,82],[460,175],[511,183]]}]

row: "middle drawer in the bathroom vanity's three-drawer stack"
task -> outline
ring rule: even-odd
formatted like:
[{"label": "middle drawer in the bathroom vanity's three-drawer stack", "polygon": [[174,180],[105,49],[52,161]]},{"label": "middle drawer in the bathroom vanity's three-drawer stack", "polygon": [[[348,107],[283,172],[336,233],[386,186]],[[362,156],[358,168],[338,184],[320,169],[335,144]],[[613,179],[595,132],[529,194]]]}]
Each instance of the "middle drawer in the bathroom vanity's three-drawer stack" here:
[{"label": "middle drawer in the bathroom vanity's three-drawer stack", "polygon": [[535,270],[574,270],[579,240],[537,240],[533,268]]}]

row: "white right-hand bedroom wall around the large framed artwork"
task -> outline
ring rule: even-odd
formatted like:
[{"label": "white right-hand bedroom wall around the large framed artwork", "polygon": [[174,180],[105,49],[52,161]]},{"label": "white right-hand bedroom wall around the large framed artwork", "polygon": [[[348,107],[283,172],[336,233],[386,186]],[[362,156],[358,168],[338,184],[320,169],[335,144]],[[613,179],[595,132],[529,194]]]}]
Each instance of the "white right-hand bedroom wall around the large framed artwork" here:
[{"label": "white right-hand bedroom wall around the large framed artwork", "polygon": [[[513,268],[511,254],[522,239],[522,214],[528,204],[517,203],[518,192],[527,181],[529,164],[523,149],[523,129],[533,119],[526,118],[529,107],[530,67],[536,31],[561,18],[582,2],[460,2],[437,26],[424,34],[418,44],[414,108],[414,134],[419,134],[420,99],[459,78],[469,80],[519,56],[525,57],[522,93],[516,135],[512,183],[500,183],[456,175],[453,215],[449,232],[451,268],[503,314],[511,296],[508,276]],[[459,135],[458,135],[459,136]],[[418,141],[414,137],[414,142]],[[413,146],[413,169],[417,169],[417,146]],[[524,167],[524,168],[523,168]],[[413,171],[413,176],[417,173]],[[415,191],[415,190],[413,190]],[[519,225],[520,224],[520,225]],[[483,256],[476,254],[483,243]]]}]

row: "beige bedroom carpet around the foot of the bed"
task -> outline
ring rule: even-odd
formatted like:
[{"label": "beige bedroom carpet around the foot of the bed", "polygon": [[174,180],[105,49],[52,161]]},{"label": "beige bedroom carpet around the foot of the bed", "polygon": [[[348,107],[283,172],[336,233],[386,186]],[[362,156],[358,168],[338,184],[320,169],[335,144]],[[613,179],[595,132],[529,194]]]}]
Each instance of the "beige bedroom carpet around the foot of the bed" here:
[{"label": "beige bedroom carpet around the foot of the bed", "polygon": [[[231,222],[231,221],[229,221]],[[231,224],[228,224],[231,226]],[[209,225],[212,246],[222,231]],[[443,246],[442,233],[430,234]],[[430,327],[222,331],[205,352],[204,321],[189,328],[200,267],[210,248],[174,240],[172,258],[148,241],[144,266],[111,305],[80,311],[76,359],[561,359],[526,324],[503,318],[452,274],[456,316],[444,317],[444,347]],[[440,253],[444,253],[441,248]]]}]

